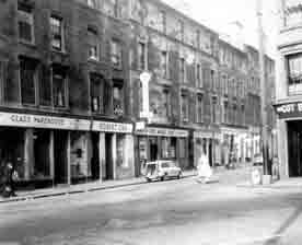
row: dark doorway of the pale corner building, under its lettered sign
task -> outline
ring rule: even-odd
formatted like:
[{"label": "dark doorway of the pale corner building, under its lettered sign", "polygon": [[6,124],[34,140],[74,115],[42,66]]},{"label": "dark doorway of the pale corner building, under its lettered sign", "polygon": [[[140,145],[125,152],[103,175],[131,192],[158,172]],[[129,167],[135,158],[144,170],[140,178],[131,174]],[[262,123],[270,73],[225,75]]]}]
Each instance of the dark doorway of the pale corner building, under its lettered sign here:
[{"label": "dark doorway of the pale corner building, under its lettered sign", "polygon": [[302,176],[302,121],[288,122],[289,176]]}]

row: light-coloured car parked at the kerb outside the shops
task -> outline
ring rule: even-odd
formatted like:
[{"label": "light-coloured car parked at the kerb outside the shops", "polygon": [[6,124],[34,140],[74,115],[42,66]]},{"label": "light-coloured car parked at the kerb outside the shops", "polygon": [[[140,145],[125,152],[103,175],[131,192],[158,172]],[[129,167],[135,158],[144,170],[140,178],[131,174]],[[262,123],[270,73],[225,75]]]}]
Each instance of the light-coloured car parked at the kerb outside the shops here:
[{"label": "light-coloured car parked at the kerb outside the shops", "polygon": [[181,167],[176,166],[174,161],[155,161],[146,164],[146,179],[164,180],[166,178],[181,178],[183,172]]}]

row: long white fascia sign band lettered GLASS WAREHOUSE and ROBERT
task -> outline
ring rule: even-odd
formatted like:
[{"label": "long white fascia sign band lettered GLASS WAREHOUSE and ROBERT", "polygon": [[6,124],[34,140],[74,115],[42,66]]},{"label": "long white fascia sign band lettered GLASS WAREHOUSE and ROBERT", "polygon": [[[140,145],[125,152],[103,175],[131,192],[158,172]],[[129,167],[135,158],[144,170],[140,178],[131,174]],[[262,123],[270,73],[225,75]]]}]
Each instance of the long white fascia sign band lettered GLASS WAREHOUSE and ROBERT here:
[{"label": "long white fascia sign band lettered GLASS WAREHOUSE and ROBERT", "polygon": [[[91,129],[91,120],[27,114],[0,113],[0,126],[89,131]],[[131,133],[132,125],[94,120],[92,130],[104,132],[108,131]]]}]

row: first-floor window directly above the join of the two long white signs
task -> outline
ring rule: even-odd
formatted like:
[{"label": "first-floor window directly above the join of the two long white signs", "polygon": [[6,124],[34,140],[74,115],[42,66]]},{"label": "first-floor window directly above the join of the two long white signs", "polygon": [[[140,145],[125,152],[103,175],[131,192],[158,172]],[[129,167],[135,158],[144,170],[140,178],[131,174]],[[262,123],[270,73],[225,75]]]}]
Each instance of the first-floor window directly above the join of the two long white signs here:
[{"label": "first-floor window directly above the join of the two long white signs", "polygon": [[100,74],[90,74],[91,86],[91,109],[93,113],[104,113],[103,106],[103,77]]}]

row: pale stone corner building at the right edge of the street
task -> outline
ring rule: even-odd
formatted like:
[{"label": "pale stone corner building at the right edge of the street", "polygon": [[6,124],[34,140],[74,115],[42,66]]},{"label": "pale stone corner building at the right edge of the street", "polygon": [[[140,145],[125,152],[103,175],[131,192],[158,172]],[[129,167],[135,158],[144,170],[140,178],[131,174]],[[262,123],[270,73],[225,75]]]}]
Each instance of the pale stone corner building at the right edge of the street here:
[{"label": "pale stone corner building at the right edge of the street", "polygon": [[301,165],[301,1],[279,0],[276,110],[280,173],[302,176]]}]

